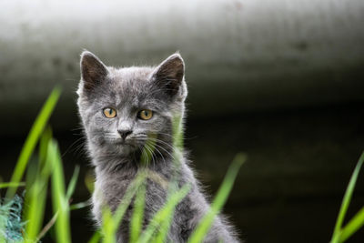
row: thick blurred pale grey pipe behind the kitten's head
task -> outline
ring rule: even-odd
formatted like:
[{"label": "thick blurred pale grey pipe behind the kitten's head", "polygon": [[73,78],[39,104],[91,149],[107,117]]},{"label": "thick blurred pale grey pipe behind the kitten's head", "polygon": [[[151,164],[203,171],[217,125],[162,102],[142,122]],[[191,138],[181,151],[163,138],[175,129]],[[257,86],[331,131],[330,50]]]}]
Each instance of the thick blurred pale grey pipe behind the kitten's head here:
[{"label": "thick blurred pale grey pipe behind the kitten's head", "polygon": [[362,0],[1,1],[0,131],[59,83],[56,127],[74,126],[83,48],[115,66],[179,50],[191,116],[362,101],[363,13]]}]

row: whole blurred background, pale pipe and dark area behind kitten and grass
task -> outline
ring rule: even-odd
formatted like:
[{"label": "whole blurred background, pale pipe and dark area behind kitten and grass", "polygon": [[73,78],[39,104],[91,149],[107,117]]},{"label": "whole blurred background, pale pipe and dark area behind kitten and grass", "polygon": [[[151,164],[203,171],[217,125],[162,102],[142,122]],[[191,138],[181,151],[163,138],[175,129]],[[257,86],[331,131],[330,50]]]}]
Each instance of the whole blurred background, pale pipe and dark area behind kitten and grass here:
[{"label": "whole blurred background, pale pipe and dark area behind kitten and grass", "polygon": [[[363,23],[362,0],[3,0],[0,177],[11,176],[37,112],[61,85],[50,124],[66,177],[81,166],[74,202],[88,199],[80,53],[138,66],[179,51],[189,89],[186,148],[208,194],[238,152],[248,156],[224,209],[241,238],[329,242],[364,150]],[[363,205],[361,173],[347,219]],[[73,212],[74,242],[93,230],[89,208]],[[349,242],[363,240],[361,229]]]}]

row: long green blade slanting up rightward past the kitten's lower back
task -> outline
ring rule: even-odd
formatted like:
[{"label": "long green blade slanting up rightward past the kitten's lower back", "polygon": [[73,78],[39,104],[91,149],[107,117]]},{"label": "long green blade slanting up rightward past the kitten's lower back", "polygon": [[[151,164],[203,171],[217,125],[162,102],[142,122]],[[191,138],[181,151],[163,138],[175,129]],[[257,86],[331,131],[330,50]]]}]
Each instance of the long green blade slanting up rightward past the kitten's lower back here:
[{"label": "long green blade slanting up rightward past the kitten's lower back", "polygon": [[222,208],[227,201],[227,197],[234,185],[235,178],[238,175],[239,167],[241,167],[245,161],[246,157],[243,154],[238,154],[234,158],[233,163],[227,170],[227,175],[225,176],[222,185],[217,191],[217,197],[215,197],[214,201],[212,202],[210,210],[208,211],[207,215],[205,215],[205,217],[199,222],[196,230],[189,238],[188,243],[197,243],[203,241],[208,229],[211,227],[214,221],[214,218],[217,216],[220,208]]}]

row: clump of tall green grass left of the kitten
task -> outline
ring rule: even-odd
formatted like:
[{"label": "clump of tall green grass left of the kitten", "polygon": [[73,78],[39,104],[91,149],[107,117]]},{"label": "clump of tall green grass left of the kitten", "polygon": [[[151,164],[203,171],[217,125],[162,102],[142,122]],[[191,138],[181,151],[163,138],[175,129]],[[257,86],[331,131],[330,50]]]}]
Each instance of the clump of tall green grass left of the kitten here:
[{"label": "clump of tall green grass left of the kitten", "polygon": [[[37,242],[54,225],[56,225],[56,241],[71,242],[68,200],[76,186],[78,173],[71,178],[66,190],[62,160],[56,140],[52,138],[50,128],[45,128],[60,93],[60,88],[56,87],[48,96],[25,140],[10,182],[0,184],[0,188],[7,187],[5,198],[0,205],[0,242]],[[35,156],[37,145],[39,152]],[[32,157],[35,159],[31,159]],[[26,179],[22,182],[25,170],[27,170]],[[55,215],[45,224],[45,200],[49,182],[52,186]],[[23,186],[25,186],[23,211],[15,212],[15,199],[18,198],[15,193],[18,187]],[[23,219],[14,221],[13,218]],[[19,235],[21,238],[17,237]]]}]

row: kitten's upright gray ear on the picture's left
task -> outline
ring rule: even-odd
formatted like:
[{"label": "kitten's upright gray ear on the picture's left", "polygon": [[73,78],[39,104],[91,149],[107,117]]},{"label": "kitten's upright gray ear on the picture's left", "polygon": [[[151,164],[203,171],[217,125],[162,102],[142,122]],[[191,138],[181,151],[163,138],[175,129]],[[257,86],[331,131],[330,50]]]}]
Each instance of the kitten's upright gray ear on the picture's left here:
[{"label": "kitten's upright gray ear on the picture's left", "polygon": [[81,80],[84,81],[86,91],[92,91],[100,85],[107,76],[107,67],[98,59],[97,56],[84,51],[81,54]]}]

